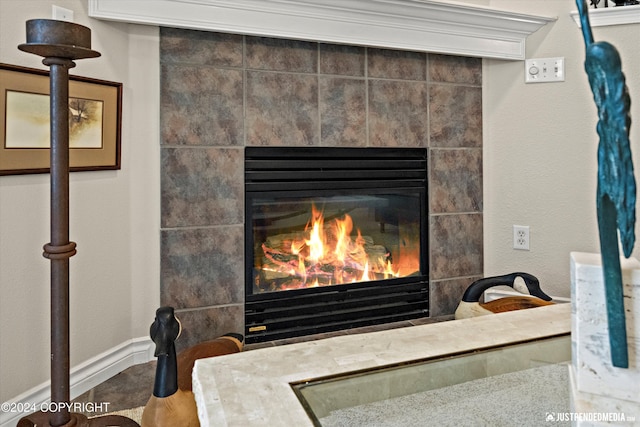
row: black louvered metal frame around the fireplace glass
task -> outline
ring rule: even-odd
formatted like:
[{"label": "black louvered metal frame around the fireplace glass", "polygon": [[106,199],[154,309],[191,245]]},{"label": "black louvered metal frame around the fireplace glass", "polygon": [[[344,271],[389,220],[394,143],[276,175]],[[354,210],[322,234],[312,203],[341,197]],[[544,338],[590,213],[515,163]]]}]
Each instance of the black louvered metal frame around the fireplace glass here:
[{"label": "black louvered metal frame around the fireplace glass", "polygon": [[[294,160],[294,161],[292,161]],[[389,323],[429,313],[427,149],[245,148],[247,343]],[[254,197],[418,192],[419,275],[357,284],[253,293]]]}]

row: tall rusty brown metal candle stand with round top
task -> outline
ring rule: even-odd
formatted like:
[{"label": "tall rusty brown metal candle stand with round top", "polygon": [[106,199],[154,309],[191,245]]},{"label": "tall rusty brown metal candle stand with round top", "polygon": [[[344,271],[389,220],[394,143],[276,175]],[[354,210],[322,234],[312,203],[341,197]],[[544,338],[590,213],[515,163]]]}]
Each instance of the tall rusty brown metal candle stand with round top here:
[{"label": "tall rusty brown metal candle stand with round top", "polygon": [[43,56],[51,70],[51,242],[43,254],[51,261],[51,410],[22,418],[18,427],[138,426],[126,417],[87,419],[69,411],[69,258],[76,253],[69,241],[69,69],[75,59],[100,53],[91,50],[89,28],[50,19],[27,21],[27,43],[18,49]]}]

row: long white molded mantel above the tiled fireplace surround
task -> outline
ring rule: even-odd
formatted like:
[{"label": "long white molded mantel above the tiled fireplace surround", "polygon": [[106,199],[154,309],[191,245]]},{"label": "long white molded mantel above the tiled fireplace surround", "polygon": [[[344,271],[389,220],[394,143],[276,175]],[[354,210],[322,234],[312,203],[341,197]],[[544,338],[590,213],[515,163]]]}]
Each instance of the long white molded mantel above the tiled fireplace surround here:
[{"label": "long white molded mantel above the tiled fireplace surround", "polygon": [[522,60],[556,18],[432,0],[89,0],[89,16],[129,23]]}]

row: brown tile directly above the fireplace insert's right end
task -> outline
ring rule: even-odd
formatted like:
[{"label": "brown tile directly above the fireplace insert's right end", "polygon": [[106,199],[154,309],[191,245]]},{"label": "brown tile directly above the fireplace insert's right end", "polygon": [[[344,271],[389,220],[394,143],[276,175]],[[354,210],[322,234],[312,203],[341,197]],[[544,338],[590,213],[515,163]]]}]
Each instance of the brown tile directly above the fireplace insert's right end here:
[{"label": "brown tile directly above the fireplace insert's right end", "polygon": [[408,81],[369,81],[369,145],[426,147],[427,84]]}]

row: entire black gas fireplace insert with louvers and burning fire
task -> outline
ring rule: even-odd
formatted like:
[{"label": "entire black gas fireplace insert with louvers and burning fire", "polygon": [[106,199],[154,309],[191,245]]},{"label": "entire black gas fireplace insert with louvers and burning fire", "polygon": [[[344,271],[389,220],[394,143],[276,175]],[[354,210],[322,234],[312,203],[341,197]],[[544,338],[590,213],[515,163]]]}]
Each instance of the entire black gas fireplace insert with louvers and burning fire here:
[{"label": "entire black gas fireplace insert with louvers and burning fire", "polygon": [[426,194],[426,149],[247,147],[247,342],[428,316]]}]

